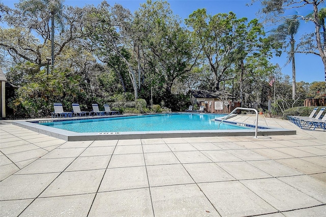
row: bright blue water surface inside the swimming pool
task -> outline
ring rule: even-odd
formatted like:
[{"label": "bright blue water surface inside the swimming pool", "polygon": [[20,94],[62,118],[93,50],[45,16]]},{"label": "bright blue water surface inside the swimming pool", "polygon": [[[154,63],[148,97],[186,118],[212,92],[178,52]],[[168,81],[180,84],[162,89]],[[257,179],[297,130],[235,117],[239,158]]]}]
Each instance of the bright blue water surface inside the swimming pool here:
[{"label": "bright blue water surface inside the swimming pool", "polygon": [[[224,115],[174,113],[65,120],[45,122],[40,124],[77,133],[218,130],[220,121],[212,121],[211,119],[221,116]],[[230,125],[224,122],[222,122],[220,125],[220,130],[244,129],[248,128]]]}]

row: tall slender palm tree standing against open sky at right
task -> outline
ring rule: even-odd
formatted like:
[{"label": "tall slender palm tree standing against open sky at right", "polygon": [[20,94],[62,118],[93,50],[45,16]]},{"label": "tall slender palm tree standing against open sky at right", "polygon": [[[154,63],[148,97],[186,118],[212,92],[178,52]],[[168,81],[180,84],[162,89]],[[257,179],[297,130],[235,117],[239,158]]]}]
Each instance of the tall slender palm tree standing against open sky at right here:
[{"label": "tall slender palm tree standing against open sky at right", "polygon": [[[297,16],[293,15],[291,18],[285,19],[283,24],[279,25],[276,29],[271,30],[272,37],[283,43],[288,42],[290,45],[290,51],[288,51],[288,63],[292,63],[292,100],[295,99],[295,40],[294,36],[300,26],[300,22],[297,20]],[[288,47],[288,45],[285,45]]]}]

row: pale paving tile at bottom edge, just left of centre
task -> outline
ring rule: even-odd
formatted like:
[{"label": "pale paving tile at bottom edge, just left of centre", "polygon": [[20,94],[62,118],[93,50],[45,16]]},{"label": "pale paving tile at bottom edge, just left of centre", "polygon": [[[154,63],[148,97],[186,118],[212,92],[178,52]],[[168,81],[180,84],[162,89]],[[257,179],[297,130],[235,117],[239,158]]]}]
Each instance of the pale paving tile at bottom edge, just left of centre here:
[{"label": "pale paving tile at bottom edge, just left of centre", "polygon": [[98,193],[89,216],[154,216],[149,189]]}]

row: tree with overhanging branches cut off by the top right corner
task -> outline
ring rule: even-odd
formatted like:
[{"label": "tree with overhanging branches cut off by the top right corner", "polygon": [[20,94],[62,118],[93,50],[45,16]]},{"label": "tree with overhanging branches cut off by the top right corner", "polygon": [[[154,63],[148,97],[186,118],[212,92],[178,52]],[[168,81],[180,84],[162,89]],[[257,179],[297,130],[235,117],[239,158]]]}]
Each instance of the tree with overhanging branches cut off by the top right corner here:
[{"label": "tree with overhanging branches cut off by the top right corner", "polygon": [[[252,2],[256,2],[257,0],[252,0]],[[326,85],[326,46],[325,42],[323,42],[323,38],[321,37],[321,26],[322,22],[320,22],[320,18],[324,16],[320,16],[320,7],[322,6],[324,0],[263,0],[260,1],[262,5],[262,13],[266,15],[266,17],[271,19],[271,21],[275,21],[275,17],[279,17],[279,15],[283,15],[285,10],[294,9],[294,8],[301,8],[301,7],[308,7],[310,6],[313,9],[313,16],[306,18],[305,16],[298,16],[302,19],[308,19],[312,21],[315,26],[315,33],[314,38],[317,46],[317,52],[313,51],[314,54],[320,56],[322,63],[324,65],[324,74],[325,74],[325,85]],[[323,12],[321,11],[323,14]],[[326,86],[325,86],[326,89]]]}]

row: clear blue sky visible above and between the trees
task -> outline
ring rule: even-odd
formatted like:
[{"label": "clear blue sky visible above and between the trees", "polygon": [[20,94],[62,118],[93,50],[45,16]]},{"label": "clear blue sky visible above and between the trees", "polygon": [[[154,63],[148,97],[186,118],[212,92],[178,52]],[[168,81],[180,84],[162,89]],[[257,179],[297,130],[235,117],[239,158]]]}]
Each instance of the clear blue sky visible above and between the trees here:
[{"label": "clear blue sky visible above and between the trees", "polygon": [[[14,3],[18,0],[0,0],[5,5],[14,8]],[[83,7],[84,5],[99,5],[101,0],[65,0],[64,4],[71,6]],[[140,4],[146,2],[146,0],[117,0],[117,1],[107,1],[109,4],[114,5],[118,3],[124,8],[129,9],[131,12],[140,8]],[[198,8],[206,8],[209,14],[218,13],[228,13],[230,11],[234,12],[238,18],[247,17],[249,20],[254,18],[259,18],[257,12],[260,8],[260,3],[255,3],[252,6],[247,6],[251,3],[251,0],[168,0],[167,1],[174,14],[179,15],[183,20],[193,13]],[[307,15],[313,11],[311,6],[306,6],[305,8],[298,8],[293,11],[287,12],[289,15]],[[262,21],[262,20],[261,20]],[[265,31],[275,28],[276,26],[265,26]],[[301,35],[305,33],[310,33],[314,31],[314,25],[312,22],[302,22],[300,29],[296,34],[296,42],[299,42]],[[271,62],[274,64],[279,64],[282,68],[282,73],[289,75],[292,78],[292,67],[291,64],[284,66],[287,62],[286,54],[282,54],[281,57],[274,57]],[[296,67],[296,81],[324,81],[324,70],[321,58],[314,54],[295,54],[295,67]]]}]

